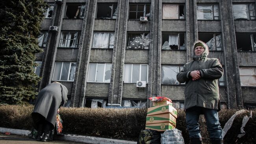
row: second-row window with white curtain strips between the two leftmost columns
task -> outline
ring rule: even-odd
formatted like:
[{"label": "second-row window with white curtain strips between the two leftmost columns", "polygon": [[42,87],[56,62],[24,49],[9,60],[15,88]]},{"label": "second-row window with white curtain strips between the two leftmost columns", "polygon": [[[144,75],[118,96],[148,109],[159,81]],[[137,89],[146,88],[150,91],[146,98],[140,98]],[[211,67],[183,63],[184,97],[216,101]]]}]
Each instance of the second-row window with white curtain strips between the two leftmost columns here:
[{"label": "second-row window with white curtain strips between the two leftmost columns", "polygon": [[80,32],[61,32],[59,47],[78,48]]}]

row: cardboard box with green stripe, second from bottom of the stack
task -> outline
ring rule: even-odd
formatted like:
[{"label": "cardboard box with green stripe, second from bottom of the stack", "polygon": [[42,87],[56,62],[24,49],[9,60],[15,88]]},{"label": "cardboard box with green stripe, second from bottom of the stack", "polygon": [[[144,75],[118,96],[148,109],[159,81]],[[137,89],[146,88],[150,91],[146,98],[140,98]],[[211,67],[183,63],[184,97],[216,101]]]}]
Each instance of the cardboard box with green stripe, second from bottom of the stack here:
[{"label": "cardboard box with green stripe, second from bottom of the stack", "polygon": [[170,122],[174,127],[176,126],[176,118],[171,113],[164,113],[159,115],[149,115],[146,118],[146,124]]}]

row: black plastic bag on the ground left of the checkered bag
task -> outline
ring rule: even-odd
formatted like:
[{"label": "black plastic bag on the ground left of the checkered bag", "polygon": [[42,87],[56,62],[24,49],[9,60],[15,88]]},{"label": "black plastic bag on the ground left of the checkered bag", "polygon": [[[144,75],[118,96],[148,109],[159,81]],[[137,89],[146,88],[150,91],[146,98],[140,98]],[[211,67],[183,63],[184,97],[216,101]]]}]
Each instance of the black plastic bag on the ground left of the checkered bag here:
[{"label": "black plastic bag on the ground left of the checkered bag", "polygon": [[161,144],[161,133],[156,130],[146,129],[139,133],[137,144]]}]

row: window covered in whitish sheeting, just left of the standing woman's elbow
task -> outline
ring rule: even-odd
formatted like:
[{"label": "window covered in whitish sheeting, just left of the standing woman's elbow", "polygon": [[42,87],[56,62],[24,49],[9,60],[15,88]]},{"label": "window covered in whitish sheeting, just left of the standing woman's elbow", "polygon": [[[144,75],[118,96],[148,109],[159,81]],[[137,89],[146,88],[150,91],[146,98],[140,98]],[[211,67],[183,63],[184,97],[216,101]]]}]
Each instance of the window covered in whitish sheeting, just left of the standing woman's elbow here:
[{"label": "window covered in whitish sheeting, just left of the standing woman's elbow", "polygon": [[161,84],[168,84],[168,85],[185,84],[185,83],[179,83],[176,78],[177,74],[180,72],[180,70],[182,70],[182,68],[183,67],[181,66],[162,65]]}]

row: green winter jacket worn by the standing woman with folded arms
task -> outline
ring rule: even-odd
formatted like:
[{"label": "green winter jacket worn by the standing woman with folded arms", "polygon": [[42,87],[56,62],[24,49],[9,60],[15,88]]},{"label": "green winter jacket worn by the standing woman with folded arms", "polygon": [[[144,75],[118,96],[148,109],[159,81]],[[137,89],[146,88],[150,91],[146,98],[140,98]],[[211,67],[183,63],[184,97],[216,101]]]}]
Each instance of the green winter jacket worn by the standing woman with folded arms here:
[{"label": "green winter jacket worn by the standing woman with folded arms", "polygon": [[[183,70],[177,74],[180,83],[186,82],[185,110],[192,106],[220,110],[218,79],[223,75],[223,68],[219,59],[206,58],[206,56],[186,63]],[[200,79],[192,81],[189,73],[193,70],[200,70]]]}]

